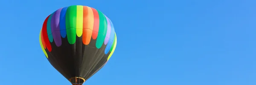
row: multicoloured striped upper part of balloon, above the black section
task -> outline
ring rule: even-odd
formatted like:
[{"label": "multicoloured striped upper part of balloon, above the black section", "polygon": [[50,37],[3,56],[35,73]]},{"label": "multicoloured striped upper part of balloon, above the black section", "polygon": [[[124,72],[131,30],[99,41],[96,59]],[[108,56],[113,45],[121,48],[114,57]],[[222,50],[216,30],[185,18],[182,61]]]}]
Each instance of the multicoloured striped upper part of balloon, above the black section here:
[{"label": "multicoloured striped upper part of balloon, above the black section", "polygon": [[[101,11],[88,6],[68,6],[60,8],[50,14],[44,21],[40,43],[44,49],[52,51],[50,42],[61,46],[62,38],[66,38],[70,44],[76,42],[76,37],[82,37],[84,45],[90,40],[96,40],[96,48],[107,45],[105,54],[115,45],[115,31],[113,23]],[[46,54],[47,55],[47,54]]]}]

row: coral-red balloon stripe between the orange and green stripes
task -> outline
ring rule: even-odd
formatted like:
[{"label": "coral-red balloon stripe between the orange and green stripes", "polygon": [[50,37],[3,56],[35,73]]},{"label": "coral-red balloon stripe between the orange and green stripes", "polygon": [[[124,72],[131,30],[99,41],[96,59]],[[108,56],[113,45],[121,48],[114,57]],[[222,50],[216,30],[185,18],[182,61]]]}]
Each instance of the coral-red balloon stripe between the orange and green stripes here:
[{"label": "coral-red balloon stripe between the orange and green stripes", "polygon": [[93,17],[94,17],[94,23],[93,23],[93,40],[95,40],[98,36],[99,31],[99,14],[98,11],[94,8],[91,8],[93,10]]}]

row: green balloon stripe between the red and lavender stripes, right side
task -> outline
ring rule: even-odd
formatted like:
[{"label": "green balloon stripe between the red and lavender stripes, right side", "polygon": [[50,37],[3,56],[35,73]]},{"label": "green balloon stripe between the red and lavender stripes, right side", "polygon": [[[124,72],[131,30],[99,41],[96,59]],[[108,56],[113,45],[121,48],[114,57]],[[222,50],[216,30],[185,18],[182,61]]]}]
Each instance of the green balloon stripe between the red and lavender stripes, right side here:
[{"label": "green balloon stripe between the red and lavender stripes, right side", "polygon": [[96,48],[101,48],[108,30],[108,23],[105,15],[101,11],[97,11],[99,13],[99,32],[96,40]]}]

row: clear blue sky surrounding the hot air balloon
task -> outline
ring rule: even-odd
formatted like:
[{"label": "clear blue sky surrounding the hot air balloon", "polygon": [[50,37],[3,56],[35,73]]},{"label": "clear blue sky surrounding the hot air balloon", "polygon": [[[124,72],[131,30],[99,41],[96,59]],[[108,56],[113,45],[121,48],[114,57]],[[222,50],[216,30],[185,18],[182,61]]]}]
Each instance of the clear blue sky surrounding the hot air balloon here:
[{"label": "clear blue sky surrounding the hot air balloon", "polygon": [[[256,0],[1,0],[0,85],[70,85],[39,45],[58,8],[96,8],[116,51],[84,85],[256,85]],[[11,78],[17,78],[15,81]]]}]

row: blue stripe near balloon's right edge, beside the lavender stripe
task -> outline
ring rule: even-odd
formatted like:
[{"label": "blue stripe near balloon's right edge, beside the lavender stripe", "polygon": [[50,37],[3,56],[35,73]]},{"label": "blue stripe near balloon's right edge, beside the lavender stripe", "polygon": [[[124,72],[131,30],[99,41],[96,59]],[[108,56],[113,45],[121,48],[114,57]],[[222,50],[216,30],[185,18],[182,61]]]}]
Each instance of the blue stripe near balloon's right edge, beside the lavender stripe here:
[{"label": "blue stripe near balloon's right edge, beside the lavender stripe", "polygon": [[105,54],[108,54],[108,52],[110,51],[112,45],[113,45],[113,41],[114,41],[114,38],[115,38],[115,28],[113,26],[113,23],[111,22],[110,19],[108,19],[110,24],[111,24],[111,32],[110,32],[110,37],[109,37],[109,40],[108,40],[108,44],[105,48]]}]

